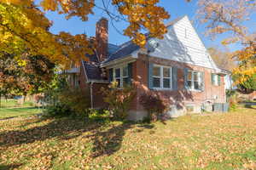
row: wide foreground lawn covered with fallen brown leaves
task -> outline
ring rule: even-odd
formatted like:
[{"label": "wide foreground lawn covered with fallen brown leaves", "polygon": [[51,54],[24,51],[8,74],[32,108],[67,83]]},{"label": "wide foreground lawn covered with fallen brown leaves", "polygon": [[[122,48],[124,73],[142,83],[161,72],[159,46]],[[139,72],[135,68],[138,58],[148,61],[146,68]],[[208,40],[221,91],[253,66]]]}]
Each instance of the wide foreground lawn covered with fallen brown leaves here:
[{"label": "wide foreground lawn covered with fallen brown leaves", "polygon": [[0,169],[256,169],[256,110],[166,123],[0,121]]}]

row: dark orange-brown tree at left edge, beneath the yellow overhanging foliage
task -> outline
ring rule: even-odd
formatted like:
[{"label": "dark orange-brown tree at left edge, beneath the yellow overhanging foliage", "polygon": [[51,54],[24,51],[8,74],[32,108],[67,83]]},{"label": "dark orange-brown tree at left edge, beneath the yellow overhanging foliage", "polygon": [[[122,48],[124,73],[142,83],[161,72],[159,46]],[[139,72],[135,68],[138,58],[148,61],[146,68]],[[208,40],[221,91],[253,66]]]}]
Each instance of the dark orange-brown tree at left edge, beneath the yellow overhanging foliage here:
[{"label": "dark orange-brown tree at left edge, beneath the yellow overhanging foliage", "polygon": [[37,94],[47,88],[54,77],[55,64],[44,56],[23,56],[16,60],[14,54],[0,57],[0,94]]}]

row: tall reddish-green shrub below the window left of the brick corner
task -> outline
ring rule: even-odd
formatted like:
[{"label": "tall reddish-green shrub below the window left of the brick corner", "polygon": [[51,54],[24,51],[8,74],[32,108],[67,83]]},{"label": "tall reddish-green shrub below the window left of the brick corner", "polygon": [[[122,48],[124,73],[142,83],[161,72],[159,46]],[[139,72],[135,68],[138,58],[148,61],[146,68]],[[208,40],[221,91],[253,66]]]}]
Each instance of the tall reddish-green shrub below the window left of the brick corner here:
[{"label": "tall reddish-green shrub below the window left of the brick corner", "polygon": [[101,92],[105,95],[104,101],[108,103],[113,117],[124,120],[128,115],[136,90],[132,86],[125,86],[120,89],[118,82],[112,82],[108,88],[102,88]]}]

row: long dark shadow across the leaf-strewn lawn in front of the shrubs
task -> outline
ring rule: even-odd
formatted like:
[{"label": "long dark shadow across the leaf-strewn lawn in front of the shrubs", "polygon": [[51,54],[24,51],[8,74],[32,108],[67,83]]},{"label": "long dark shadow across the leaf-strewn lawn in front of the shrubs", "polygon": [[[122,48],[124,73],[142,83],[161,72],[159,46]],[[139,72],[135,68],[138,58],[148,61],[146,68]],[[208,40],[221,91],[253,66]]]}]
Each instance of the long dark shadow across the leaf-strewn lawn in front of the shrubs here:
[{"label": "long dark shadow across the leaf-strewn lawn in front of the shrubs", "polygon": [[[34,119],[28,122],[28,124],[32,123],[38,123],[38,120]],[[125,131],[134,125],[136,125],[134,122],[108,124],[108,122],[84,122],[68,118],[55,119],[44,126],[32,127],[25,131],[15,130],[0,133],[0,146],[10,147],[17,144],[30,144],[56,137],[62,140],[74,139],[83,135],[84,132],[90,131],[92,134],[83,138],[92,140],[91,156],[112,155],[120,149]],[[153,128],[154,126],[140,124],[137,127],[143,131],[144,128]]]}]

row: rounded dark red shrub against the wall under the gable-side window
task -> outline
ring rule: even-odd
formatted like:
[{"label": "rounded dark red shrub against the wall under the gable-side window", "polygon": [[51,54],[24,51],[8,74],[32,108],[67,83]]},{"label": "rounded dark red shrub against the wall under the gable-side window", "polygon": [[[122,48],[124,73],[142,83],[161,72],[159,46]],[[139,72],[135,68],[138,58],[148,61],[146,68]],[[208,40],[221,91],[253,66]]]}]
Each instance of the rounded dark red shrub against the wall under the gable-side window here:
[{"label": "rounded dark red shrub against the wall under the gable-side window", "polygon": [[160,96],[160,94],[148,92],[140,97],[140,103],[143,105],[151,121],[156,122],[161,114],[168,109],[168,101]]}]

